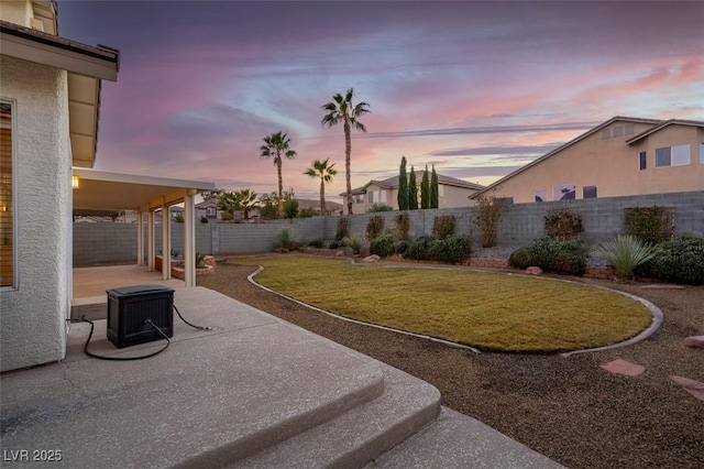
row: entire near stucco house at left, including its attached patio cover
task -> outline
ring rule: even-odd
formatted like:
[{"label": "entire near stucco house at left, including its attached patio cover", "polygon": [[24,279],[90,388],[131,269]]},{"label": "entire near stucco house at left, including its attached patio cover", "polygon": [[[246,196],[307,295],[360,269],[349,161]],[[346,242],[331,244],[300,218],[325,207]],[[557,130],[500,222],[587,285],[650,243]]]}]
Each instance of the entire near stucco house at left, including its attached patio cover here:
[{"label": "entire near stucco house at left, including its attached patio cover", "polygon": [[[210,183],[96,172],[101,80],[114,81],[119,51],[58,36],[53,0],[0,8],[0,371],[61,360],[73,299],[75,210],[154,212],[184,203],[186,286],[195,284],[195,195]],[[168,246],[169,223],[162,223]],[[168,252],[168,251],[167,251]],[[143,265],[143,251],[136,253]],[[170,262],[165,258],[166,264]],[[170,269],[164,269],[165,279]]]}]

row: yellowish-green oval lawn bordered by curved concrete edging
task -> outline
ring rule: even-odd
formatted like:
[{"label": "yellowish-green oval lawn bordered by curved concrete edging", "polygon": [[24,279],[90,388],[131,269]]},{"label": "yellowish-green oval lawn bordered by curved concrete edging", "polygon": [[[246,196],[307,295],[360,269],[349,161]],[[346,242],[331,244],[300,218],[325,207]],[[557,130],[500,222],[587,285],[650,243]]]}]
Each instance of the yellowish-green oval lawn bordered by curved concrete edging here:
[{"label": "yellowish-green oval lawn bordered by curved concrete edging", "polygon": [[483,350],[601,347],[636,336],[651,320],[624,295],[544,279],[295,254],[237,263],[263,265],[256,282],[328,312]]}]

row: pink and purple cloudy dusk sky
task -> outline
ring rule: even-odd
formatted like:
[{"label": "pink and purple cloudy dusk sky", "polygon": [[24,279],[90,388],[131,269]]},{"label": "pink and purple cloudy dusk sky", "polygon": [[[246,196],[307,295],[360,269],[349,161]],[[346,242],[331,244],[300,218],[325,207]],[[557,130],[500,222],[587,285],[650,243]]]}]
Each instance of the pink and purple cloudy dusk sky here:
[{"label": "pink and purple cloudy dusk sky", "polygon": [[320,106],[353,87],[352,186],[436,165],[491,184],[614,116],[704,120],[704,2],[67,1],[59,34],[120,50],[103,81],[96,168],[276,189],[262,139],[298,156],[284,188],[330,157]]}]

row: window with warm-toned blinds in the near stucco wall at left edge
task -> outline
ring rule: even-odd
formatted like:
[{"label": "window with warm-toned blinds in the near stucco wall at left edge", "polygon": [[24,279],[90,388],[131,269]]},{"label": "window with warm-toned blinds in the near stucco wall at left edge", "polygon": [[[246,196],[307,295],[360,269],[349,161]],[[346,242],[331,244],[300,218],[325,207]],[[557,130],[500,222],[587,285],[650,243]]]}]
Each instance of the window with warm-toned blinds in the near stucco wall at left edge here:
[{"label": "window with warm-toned blinds in the near stucco wall at left edge", "polygon": [[12,108],[0,101],[0,288],[16,286]]}]

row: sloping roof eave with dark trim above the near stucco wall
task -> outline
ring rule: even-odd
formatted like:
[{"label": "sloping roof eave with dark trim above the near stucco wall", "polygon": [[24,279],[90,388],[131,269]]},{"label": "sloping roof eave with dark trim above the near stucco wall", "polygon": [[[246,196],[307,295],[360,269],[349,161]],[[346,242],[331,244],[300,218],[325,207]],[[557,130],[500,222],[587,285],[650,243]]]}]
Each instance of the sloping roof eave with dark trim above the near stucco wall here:
[{"label": "sloping roof eave with dark trim above the near stucco wall", "polygon": [[117,80],[120,52],[0,21],[2,55],[68,73],[68,121],[73,165],[92,167],[98,142],[100,80]]}]

